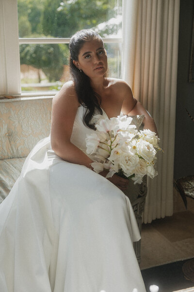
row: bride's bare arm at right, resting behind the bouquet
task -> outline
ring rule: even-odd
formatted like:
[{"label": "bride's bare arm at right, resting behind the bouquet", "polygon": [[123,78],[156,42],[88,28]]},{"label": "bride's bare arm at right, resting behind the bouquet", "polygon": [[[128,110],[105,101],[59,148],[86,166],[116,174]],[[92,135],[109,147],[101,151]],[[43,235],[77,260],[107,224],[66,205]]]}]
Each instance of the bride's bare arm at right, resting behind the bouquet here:
[{"label": "bride's bare arm at right, resting behind the bouquet", "polygon": [[150,129],[158,135],[158,130],[156,128],[156,124],[154,119],[150,117],[142,104],[134,99],[133,93],[127,83],[123,83],[123,93],[124,93],[124,101],[122,105],[122,112],[127,115],[138,115],[144,114],[145,118],[143,120],[144,128]]}]

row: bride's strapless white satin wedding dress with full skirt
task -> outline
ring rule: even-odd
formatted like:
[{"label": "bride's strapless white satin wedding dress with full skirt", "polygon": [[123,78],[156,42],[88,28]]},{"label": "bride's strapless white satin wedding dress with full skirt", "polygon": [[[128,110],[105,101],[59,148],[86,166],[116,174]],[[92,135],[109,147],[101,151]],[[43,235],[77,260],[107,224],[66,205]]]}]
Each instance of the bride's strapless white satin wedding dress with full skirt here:
[{"label": "bride's strapless white satin wedding dress with full skirt", "polygon": [[[84,110],[71,142],[85,152],[93,130],[83,125]],[[133,250],[139,239],[124,193],[62,160],[47,137],[0,204],[0,292],[146,292]]]}]

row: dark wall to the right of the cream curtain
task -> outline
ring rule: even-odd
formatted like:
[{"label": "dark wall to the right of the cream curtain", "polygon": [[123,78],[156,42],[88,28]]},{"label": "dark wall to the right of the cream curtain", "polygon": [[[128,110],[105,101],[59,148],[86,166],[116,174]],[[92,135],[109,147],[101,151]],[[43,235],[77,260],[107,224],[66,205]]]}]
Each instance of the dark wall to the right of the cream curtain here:
[{"label": "dark wall to the right of the cream curtain", "polygon": [[189,83],[194,0],[180,0],[174,178],[194,175],[194,82]]}]

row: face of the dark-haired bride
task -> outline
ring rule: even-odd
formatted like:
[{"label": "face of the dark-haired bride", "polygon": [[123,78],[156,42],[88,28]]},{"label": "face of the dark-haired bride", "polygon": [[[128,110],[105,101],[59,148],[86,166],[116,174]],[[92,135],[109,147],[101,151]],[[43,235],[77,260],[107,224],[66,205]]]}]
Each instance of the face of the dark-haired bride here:
[{"label": "face of the dark-haired bride", "polygon": [[89,78],[104,76],[107,72],[107,54],[103,42],[98,39],[86,41],[81,47],[78,61],[74,65],[81,69]]}]

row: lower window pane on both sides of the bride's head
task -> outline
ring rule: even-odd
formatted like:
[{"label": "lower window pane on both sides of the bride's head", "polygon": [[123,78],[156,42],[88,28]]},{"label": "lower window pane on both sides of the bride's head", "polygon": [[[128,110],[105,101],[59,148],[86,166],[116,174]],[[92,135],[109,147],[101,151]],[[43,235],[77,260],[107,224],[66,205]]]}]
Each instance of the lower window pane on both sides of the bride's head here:
[{"label": "lower window pane on both sides of the bride's head", "polygon": [[[121,77],[121,44],[105,44],[110,77]],[[68,44],[22,44],[22,91],[58,91],[70,79]]]}]

